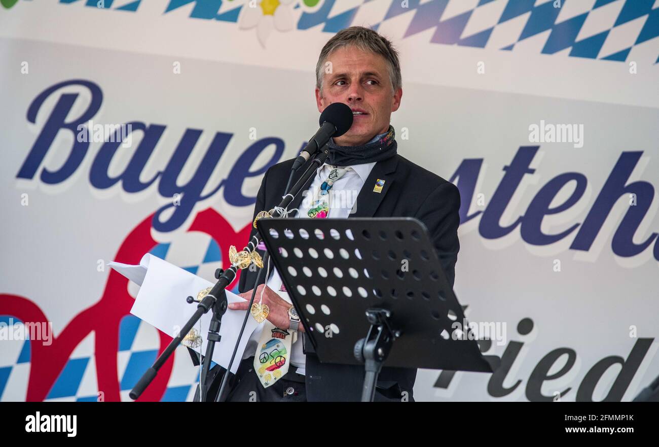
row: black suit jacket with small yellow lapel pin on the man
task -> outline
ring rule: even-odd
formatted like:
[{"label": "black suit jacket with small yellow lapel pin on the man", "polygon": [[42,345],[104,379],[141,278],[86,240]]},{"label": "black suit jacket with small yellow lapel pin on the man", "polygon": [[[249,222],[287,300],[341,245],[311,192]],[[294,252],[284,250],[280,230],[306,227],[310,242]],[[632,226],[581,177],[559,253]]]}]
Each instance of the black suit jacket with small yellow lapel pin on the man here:
[{"label": "black suit jacket with small yellow lapel pin on the man", "polygon": [[[309,164],[310,162],[307,162],[297,170],[291,185],[295,185]],[[281,202],[292,165],[293,160],[287,160],[273,165],[266,171],[256,196],[254,216],[259,211],[270,210]],[[308,189],[314,177],[312,175],[302,191]],[[385,181],[381,193],[373,191],[377,179]],[[302,194],[299,194],[297,200],[291,202],[289,209],[297,208],[301,201]],[[453,183],[396,155],[374,165],[357,196],[355,213],[349,218],[413,217],[423,222],[452,287],[457,252],[460,247],[457,238],[459,208],[460,194]],[[256,229],[253,229],[252,235],[255,233]],[[249,269],[241,272],[239,283],[241,293],[254,287],[256,275],[257,272],[251,272]],[[263,283],[264,279],[265,275],[262,275],[260,283]],[[306,334],[302,340],[306,353],[307,399],[309,401],[359,400],[364,380],[363,367],[320,363],[318,357],[312,353],[313,347],[306,339]],[[378,378],[378,390],[394,399],[399,398],[401,392],[407,392],[407,396],[412,400],[415,379],[416,369],[384,367]]]}]

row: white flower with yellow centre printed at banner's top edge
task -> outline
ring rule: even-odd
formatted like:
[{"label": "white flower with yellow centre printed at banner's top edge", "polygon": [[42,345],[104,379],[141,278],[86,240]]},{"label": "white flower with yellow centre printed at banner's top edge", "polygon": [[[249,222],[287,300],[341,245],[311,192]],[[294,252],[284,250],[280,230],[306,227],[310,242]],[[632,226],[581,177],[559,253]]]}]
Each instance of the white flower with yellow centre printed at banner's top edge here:
[{"label": "white flower with yellow centre printed at banner's top edge", "polygon": [[258,42],[265,48],[273,28],[285,32],[295,27],[292,3],[293,0],[248,1],[238,18],[238,28],[249,30],[256,27]]}]

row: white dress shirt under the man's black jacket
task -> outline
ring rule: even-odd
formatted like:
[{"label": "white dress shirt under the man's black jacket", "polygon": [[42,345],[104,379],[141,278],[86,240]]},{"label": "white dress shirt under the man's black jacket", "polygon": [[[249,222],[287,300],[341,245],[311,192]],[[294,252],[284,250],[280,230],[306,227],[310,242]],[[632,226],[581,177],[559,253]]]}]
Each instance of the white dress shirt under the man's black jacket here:
[{"label": "white dress shirt under the man's black jacket", "polygon": [[[343,176],[340,179],[334,182],[333,186],[329,190],[328,218],[345,219],[348,217],[348,215],[350,214],[353,208],[353,205],[357,201],[357,195],[364,186],[364,183],[366,183],[366,179],[368,178],[368,175],[370,174],[370,171],[371,169],[373,169],[374,165],[375,162],[360,164],[360,165],[352,165],[349,167],[349,169],[343,174]],[[309,208],[311,208],[311,206],[314,204],[315,200],[318,198],[318,191],[320,191],[320,185],[322,185],[322,183],[328,179],[329,172],[333,168],[334,168],[333,166],[322,165],[316,170],[316,177],[314,178],[314,181],[311,183],[307,193],[302,199],[302,202],[299,207],[299,212],[296,216],[297,218],[308,219],[307,212]],[[288,293],[279,290],[281,288],[281,278],[279,277],[279,273],[277,273],[276,268],[272,270],[272,274],[270,274],[270,276],[268,277],[268,282],[266,284],[268,285],[268,287],[270,287],[270,289],[275,291],[277,295],[279,295],[282,299],[285,299],[285,301],[291,303],[291,299],[289,298]],[[258,299],[259,299],[259,295],[257,294],[256,297],[254,297],[254,303],[258,303]],[[263,330],[263,325],[260,324],[259,326],[256,326],[256,329],[254,330],[254,332],[252,332],[252,336],[247,342],[243,354],[243,359],[252,357],[252,355],[254,355],[254,353],[256,352],[256,347],[258,345],[258,340],[261,337],[262,330]],[[291,346],[290,361],[291,361],[291,365],[298,368],[297,372],[299,374],[304,374],[305,356],[304,353],[302,352],[301,338],[302,338],[302,333],[299,332],[297,340]]]}]

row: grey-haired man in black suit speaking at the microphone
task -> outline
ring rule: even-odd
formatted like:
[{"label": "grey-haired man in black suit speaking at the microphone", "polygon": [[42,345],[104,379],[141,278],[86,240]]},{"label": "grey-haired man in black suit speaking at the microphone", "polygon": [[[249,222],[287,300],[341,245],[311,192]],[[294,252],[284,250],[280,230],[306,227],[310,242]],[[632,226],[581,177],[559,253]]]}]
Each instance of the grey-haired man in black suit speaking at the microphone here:
[{"label": "grey-haired man in black suit speaking at the microphone", "polygon": [[[368,28],[351,27],[331,38],[320,53],[316,67],[316,102],[318,111],[333,102],[343,102],[353,110],[351,129],[328,145],[328,165],[318,168],[316,177],[308,181],[302,191],[318,193],[327,188],[327,179],[337,178],[331,194],[353,192],[345,203],[332,206],[328,212],[314,208],[317,202],[302,203],[302,196],[289,209],[299,208],[300,216],[331,218],[355,217],[414,217],[426,225],[434,247],[442,262],[451,286],[455,278],[455,262],[459,250],[457,227],[460,208],[459,191],[442,177],[413,164],[397,154],[393,127],[389,125],[391,112],[400,105],[400,65],[391,42]],[[254,216],[271,210],[284,194],[293,160],[273,165],[264,175],[256,198]],[[340,167],[341,175],[335,175]],[[306,165],[298,169],[293,182],[302,175]],[[332,170],[333,169],[333,170]],[[345,172],[344,172],[345,171]],[[329,175],[329,177],[328,177]],[[334,176],[334,177],[333,177]],[[326,179],[326,183],[323,180]],[[377,182],[377,187],[376,187]],[[356,197],[356,199],[355,199]],[[343,206],[343,208],[341,208]],[[320,213],[321,216],[316,216]],[[256,230],[252,231],[252,235]],[[257,272],[243,270],[239,289],[244,303],[229,305],[229,309],[248,307]],[[276,279],[275,279],[276,278]],[[278,280],[278,282],[277,282]],[[264,275],[257,289],[262,301],[270,307],[268,320],[275,328],[295,328],[287,299],[276,271],[264,285]],[[295,313],[293,313],[295,315]],[[243,355],[231,388],[223,399],[229,401],[324,401],[359,400],[364,379],[363,367],[320,363],[300,325],[297,341],[293,342],[291,367],[272,386],[264,388],[254,369],[252,337]],[[256,331],[255,331],[256,334]],[[257,349],[258,351],[258,349]],[[223,371],[212,371],[212,386],[208,396],[213,398]],[[413,400],[416,369],[383,368],[378,378],[376,400]]]}]

